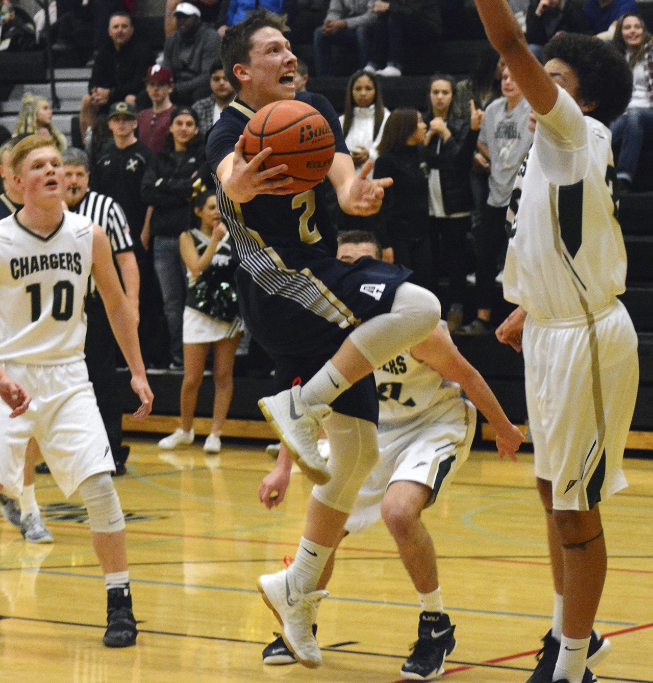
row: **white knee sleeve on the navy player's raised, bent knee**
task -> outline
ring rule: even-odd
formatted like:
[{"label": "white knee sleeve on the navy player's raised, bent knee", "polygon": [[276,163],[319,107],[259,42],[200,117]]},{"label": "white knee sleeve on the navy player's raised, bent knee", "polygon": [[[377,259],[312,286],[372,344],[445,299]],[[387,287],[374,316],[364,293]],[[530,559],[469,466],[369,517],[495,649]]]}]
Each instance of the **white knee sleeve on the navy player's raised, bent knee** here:
[{"label": "white knee sleeve on the navy player's raised, bent knee", "polygon": [[390,312],[363,322],[349,339],[372,367],[381,367],[426,339],[440,322],[440,313],[435,294],[404,282],[395,292]]}]

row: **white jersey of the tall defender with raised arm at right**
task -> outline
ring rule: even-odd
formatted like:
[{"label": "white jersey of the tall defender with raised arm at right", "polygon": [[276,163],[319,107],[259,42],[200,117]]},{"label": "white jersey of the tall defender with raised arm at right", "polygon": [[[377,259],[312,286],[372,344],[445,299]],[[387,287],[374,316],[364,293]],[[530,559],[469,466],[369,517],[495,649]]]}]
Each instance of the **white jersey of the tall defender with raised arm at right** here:
[{"label": "white jersey of the tall defender with raised arm at right", "polygon": [[586,316],[626,288],[611,135],[560,87],[537,118],[508,208],[503,295],[534,318]]}]

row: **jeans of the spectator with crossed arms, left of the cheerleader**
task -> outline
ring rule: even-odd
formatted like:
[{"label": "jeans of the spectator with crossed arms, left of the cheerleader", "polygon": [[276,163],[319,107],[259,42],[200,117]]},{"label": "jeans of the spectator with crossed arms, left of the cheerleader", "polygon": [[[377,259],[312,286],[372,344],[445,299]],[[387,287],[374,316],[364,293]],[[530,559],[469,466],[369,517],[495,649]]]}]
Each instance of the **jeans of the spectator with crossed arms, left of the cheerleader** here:
[{"label": "jeans of the spectator with crossed arms, left of the cheerleader", "polygon": [[186,271],[182,264],[178,237],[154,238],[154,270],[163,294],[163,312],[170,333],[173,361],[184,359],[184,305],[186,304]]}]

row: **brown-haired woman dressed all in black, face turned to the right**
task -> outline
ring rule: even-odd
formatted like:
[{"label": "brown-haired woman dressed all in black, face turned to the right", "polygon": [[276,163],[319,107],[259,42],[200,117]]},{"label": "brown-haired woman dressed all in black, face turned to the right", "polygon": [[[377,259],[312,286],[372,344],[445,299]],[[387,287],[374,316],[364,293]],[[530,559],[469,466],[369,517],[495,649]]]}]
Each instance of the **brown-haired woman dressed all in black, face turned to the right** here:
[{"label": "brown-haired woman dressed all in black, face turned to the right", "polygon": [[409,281],[432,286],[428,218],[426,124],[417,109],[395,109],[385,124],[374,165],[375,178],[392,178],[378,212],[377,232],[395,263],[413,270]]}]

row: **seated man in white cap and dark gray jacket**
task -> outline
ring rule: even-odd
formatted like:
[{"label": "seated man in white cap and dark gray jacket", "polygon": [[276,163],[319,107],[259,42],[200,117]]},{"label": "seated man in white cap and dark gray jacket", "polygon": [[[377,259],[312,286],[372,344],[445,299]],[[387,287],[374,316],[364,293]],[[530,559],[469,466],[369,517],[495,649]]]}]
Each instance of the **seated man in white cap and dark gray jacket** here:
[{"label": "seated man in white cap and dark gray jacket", "polygon": [[177,30],[163,46],[163,66],[172,72],[175,102],[190,105],[210,92],[208,76],[214,59],[220,54],[221,38],[215,29],[202,23],[196,5],[178,4],[174,17]]}]

